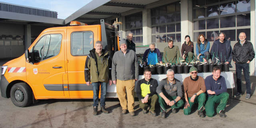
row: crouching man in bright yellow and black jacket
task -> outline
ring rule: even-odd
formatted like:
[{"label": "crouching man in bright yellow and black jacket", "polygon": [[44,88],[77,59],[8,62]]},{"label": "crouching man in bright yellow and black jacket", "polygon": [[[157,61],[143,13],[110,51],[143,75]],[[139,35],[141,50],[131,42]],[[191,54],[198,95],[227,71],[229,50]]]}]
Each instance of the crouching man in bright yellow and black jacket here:
[{"label": "crouching man in bright yellow and black jacket", "polygon": [[136,84],[137,97],[139,99],[140,108],[144,114],[148,112],[148,105],[150,104],[149,113],[156,116],[155,106],[158,100],[156,94],[157,80],[151,78],[151,71],[146,68],[144,70],[144,79],[139,80]]}]

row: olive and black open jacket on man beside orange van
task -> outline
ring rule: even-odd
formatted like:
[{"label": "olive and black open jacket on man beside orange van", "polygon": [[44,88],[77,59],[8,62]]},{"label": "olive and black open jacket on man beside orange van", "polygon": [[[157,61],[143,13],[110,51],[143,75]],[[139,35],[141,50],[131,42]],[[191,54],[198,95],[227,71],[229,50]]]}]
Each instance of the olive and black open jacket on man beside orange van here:
[{"label": "olive and black open jacket on man beside orange van", "polygon": [[95,54],[95,48],[90,50],[90,54],[87,56],[84,66],[84,79],[86,82],[106,82],[111,80],[110,57],[109,52],[102,49],[103,60],[102,68],[98,70],[98,62]]}]

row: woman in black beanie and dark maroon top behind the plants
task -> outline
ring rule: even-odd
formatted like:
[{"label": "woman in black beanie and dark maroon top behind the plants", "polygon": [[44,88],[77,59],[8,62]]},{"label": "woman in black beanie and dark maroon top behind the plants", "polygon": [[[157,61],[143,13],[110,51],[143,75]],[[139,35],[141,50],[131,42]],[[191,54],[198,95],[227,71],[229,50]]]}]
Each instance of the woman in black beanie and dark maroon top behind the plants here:
[{"label": "woman in black beanie and dark maroon top behind the plants", "polygon": [[181,46],[181,56],[185,60],[188,58],[188,62],[193,60],[194,56],[194,43],[190,40],[190,36],[185,36],[185,42]]}]

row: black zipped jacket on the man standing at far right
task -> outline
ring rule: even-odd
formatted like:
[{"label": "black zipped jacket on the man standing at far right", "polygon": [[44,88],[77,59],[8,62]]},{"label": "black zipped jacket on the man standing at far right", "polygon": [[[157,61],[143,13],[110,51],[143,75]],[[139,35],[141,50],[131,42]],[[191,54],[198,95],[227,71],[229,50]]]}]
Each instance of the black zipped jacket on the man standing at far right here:
[{"label": "black zipped jacket on the man standing at far right", "polygon": [[253,45],[251,42],[245,40],[243,46],[238,41],[234,45],[232,52],[234,62],[238,64],[245,64],[248,60],[251,62],[255,56]]}]

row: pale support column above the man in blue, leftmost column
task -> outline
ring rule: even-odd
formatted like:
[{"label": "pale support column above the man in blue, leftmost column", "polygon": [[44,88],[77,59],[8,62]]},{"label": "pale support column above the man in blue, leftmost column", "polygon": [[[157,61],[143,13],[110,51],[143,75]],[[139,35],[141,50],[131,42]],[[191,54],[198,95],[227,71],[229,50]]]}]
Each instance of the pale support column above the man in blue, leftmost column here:
[{"label": "pale support column above the man in blue, leftmost column", "polygon": [[150,9],[144,9],[142,11],[142,31],[143,31],[143,45],[148,45],[151,43],[151,18]]}]

